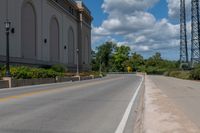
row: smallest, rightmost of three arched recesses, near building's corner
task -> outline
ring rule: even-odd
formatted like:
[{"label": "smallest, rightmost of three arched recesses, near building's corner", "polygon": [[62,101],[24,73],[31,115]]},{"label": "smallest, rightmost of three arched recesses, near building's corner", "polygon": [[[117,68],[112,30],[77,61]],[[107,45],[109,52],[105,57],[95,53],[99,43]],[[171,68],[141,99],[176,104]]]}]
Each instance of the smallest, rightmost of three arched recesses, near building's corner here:
[{"label": "smallest, rightmost of three arched recesses, near building's corner", "polygon": [[68,31],[68,47],[69,47],[69,64],[75,64],[75,44],[74,44],[74,31],[72,27],[69,28]]}]

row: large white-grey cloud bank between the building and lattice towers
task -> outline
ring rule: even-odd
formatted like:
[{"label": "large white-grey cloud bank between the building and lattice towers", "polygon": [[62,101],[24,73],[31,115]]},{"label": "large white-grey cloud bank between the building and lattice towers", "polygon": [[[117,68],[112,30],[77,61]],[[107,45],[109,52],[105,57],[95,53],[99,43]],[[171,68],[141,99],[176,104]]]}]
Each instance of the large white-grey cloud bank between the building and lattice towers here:
[{"label": "large white-grey cloud bank between the building and lattice towers", "polygon": [[[177,5],[173,1],[178,0],[167,0],[171,16],[175,15],[173,12],[176,9],[172,5]],[[118,45],[129,44],[134,51],[177,47],[179,25],[165,18],[157,20],[147,12],[156,2],[158,0],[104,0],[102,8],[108,18],[100,27],[93,28],[93,37],[100,40],[107,36],[120,36],[124,40],[118,42]]]}]

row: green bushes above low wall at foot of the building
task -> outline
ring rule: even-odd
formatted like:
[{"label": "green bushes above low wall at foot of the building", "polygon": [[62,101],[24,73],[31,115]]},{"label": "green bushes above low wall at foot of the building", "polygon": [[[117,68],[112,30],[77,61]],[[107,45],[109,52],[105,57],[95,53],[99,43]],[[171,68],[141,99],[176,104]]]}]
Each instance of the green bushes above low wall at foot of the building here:
[{"label": "green bushes above low wall at foot of the building", "polygon": [[[15,79],[55,78],[56,76],[64,75],[52,69],[31,68],[26,66],[11,67],[10,72]],[[2,75],[5,76],[5,69],[2,71]]]}]

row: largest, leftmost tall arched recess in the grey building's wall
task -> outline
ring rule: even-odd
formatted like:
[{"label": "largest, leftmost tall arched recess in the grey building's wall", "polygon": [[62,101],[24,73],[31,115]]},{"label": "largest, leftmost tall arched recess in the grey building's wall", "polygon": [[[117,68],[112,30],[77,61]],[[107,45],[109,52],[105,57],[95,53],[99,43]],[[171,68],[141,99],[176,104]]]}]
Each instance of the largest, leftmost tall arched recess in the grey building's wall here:
[{"label": "largest, leftmost tall arched recess in the grey building's wall", "polygon": [[22,57],[36,58],[36,13],[30,2],[21,9],[21,50]]}]

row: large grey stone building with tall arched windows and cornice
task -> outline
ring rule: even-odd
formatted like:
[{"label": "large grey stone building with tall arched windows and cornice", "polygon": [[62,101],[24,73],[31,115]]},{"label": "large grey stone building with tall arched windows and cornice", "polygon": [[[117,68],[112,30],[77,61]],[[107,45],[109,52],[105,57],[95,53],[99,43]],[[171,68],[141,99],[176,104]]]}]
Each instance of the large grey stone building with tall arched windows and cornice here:
[{"label": "large grey stone building with tall arched windows and cornice", "polygon": [[81,0],[0,0],[0,62],[6,59],[7,18],[11,63],[62,63],[75,70],[79,55],[80,69],[90,69],[92,16]]}]

